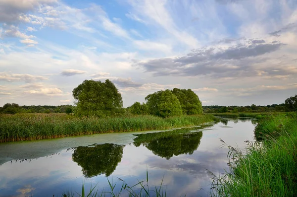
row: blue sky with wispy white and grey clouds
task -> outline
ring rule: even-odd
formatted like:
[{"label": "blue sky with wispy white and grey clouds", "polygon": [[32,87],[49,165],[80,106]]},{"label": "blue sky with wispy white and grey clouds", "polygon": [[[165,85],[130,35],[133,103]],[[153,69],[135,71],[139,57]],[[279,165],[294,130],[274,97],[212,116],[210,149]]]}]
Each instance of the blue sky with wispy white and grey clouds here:
[{"label": "blue sky with wispy white and grey clouds", "polygon": [[202,105],[297,94],[297,0],[0,0],[0,106],[74,104],[110,79],[124,107],[191,88]]}]

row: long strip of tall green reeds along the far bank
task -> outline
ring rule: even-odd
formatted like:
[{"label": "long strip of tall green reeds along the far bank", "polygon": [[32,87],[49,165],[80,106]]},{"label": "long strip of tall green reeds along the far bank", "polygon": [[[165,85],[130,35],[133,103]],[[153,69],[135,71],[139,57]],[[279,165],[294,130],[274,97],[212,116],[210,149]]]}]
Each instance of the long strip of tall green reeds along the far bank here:
[{"label": "long strip of tall green reeds along the far bank", "polygon": [[159,118],[76,118],[66,114],[0,115],[0,142],[60,138],[106,132],[166,130],[214,120],[212,115]]}]

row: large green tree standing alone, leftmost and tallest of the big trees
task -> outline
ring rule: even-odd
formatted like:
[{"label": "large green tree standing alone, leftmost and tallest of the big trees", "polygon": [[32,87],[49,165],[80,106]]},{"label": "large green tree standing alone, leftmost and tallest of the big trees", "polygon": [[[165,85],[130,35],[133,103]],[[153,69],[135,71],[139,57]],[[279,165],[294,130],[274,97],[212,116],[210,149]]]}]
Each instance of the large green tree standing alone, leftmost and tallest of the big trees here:
[{"label": "large green tree standing alone, leftmost and tallest of the big trees", "polygon": [[84,80],[72,91],[76,100],[78,116],[110,116],[123,111],[123,100],[115,85],[108,79],[105,82]]}]

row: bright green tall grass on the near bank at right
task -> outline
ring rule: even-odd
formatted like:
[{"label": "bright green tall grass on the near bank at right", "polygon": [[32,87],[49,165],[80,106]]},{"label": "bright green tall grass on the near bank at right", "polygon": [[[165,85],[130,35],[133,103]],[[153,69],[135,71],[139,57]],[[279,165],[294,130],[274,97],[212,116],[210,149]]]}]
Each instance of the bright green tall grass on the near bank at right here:
[{"label": "bright green tall grass on the near bank at right", "polygon": [[297,194],[297,115],[266,117],[255,128],[261,142],[247,154],[229,146],[230,171],[213,177],[213,196],[294,197]]}]

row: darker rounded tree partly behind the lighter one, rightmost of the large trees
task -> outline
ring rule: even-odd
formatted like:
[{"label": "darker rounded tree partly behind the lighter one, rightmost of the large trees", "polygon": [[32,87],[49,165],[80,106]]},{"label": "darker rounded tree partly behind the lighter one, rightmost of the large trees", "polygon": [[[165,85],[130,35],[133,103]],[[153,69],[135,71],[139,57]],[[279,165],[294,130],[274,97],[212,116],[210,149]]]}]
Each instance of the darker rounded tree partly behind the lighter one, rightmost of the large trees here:
[{"label": "darker rounded tree partly behind the lighter one, rightmost of the large trees", "polygon": [[179,89],[173,88],[171,91],[181,103],[183,114],[193,115],[193,114],[202,114],[203,109],[201,101],[195,92],[191,89]]}]

